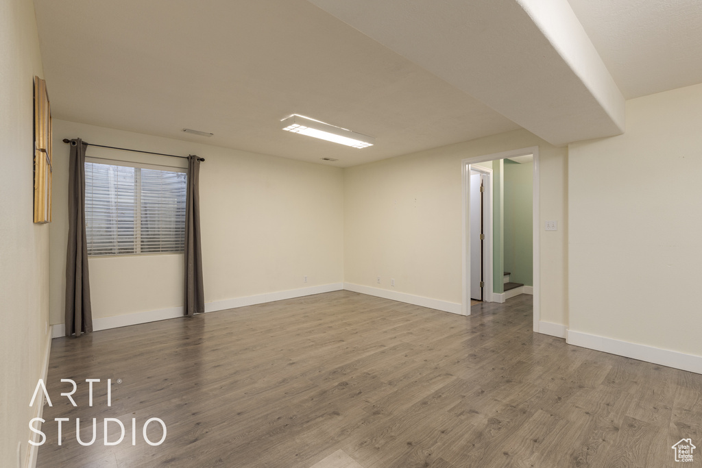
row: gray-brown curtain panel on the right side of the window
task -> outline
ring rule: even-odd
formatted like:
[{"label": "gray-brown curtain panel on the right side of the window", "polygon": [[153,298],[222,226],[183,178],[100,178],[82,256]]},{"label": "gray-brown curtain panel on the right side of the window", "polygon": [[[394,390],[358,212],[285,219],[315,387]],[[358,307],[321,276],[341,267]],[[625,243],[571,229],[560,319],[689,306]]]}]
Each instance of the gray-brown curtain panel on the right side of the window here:
[{"label": "gray-brown curtain panel on the right side of the window", "polygon": [[200,159],[188,156],[185,195],[185,315],[205,312],[200,236]]}]

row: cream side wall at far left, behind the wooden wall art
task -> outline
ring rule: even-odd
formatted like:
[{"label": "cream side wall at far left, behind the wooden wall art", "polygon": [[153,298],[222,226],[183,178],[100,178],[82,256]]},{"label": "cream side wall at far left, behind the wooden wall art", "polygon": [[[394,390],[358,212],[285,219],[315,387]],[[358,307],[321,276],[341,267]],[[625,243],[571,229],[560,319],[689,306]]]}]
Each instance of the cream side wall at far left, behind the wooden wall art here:
[{"label": "cream side wall at far left, behind the wooden wall art", "polygon": [[31,0],[0,2],[0,64],[0,466],[16,467],[48,340],[49,227],[32,222],[32,83],[44,73]]}]

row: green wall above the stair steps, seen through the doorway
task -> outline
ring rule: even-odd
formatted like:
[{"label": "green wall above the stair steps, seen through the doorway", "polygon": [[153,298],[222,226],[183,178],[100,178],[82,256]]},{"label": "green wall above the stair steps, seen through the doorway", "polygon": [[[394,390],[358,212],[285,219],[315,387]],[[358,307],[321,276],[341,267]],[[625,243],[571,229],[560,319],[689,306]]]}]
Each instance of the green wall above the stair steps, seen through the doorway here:
[{"label": "green wall above the stair steps, seen through the doorway", "polygon": [[[534,163],[504,161],[503,265],[512,283],[534,286],[532,186]],[[497,239],[496,239],[497,240]],[[502,281],[501,281],[502,282]]]}]

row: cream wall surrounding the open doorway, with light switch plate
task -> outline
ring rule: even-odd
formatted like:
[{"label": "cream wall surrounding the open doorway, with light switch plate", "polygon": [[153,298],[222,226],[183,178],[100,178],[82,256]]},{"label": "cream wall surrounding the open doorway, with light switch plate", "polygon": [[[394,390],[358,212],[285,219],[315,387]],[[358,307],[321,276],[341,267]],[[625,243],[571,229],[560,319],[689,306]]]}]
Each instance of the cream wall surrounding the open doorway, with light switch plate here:
[{"label": "cream wall surrounding the open doorway, with light switch plate", "polygon": [[345,281],[460,304],[461,160],[531,146],[541,153],[541,219],[559,222],[557,232],[541,222],[541,320],[567,326],[567,149],[527,131],[347,168]]}]

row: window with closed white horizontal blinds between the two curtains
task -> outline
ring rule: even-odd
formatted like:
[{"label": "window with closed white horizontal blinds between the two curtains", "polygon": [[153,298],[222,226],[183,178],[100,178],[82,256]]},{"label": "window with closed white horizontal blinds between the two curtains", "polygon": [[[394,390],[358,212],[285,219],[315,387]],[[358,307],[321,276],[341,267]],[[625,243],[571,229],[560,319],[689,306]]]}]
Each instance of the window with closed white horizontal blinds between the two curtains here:
[{"label": "window with closed white horizontal blinds between the two curtains", "polygon": [[185,169],[94,161],[86,161],[88,255],[183,252]]}]

